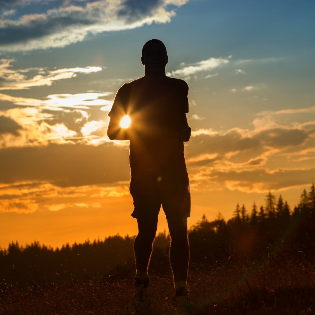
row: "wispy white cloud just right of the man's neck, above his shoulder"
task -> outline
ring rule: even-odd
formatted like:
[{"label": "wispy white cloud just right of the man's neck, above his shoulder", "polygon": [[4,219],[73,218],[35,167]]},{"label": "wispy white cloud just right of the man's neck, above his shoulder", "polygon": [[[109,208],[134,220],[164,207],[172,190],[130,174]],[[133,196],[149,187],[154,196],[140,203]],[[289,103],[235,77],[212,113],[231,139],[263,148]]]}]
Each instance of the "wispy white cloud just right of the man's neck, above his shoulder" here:
[{"label": "wispy white cloud just right of the man's neck, above his shoulder", "polygon": [[[194,75],[197,75],[200,72],[211,71],[219,66],[223,66],[229,63],[229,60],[224,58],[209,58],[207,60],[202,60],[196,63],[188,64],[182,62],[180,64],[181,68],[173,70],[167,73],[167,76],[170,77],[180,77],[189,79]],[[216,76],[214,74],[212,76]]]}]

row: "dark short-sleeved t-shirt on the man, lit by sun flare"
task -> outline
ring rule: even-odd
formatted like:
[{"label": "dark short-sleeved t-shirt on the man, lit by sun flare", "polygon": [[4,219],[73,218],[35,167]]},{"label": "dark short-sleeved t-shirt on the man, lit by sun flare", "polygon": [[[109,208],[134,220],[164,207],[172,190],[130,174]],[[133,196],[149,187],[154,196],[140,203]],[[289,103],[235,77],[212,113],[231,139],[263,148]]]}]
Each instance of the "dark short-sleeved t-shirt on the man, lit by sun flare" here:
[{"label": "dark short-sleeved t-shirt on the man, lit by sun flare", "polygon": [[188,112],[188,85],[165,77],[141,77],[117,91],[108,116],[129,115],[131,176],[186,170],[181,129]]}]

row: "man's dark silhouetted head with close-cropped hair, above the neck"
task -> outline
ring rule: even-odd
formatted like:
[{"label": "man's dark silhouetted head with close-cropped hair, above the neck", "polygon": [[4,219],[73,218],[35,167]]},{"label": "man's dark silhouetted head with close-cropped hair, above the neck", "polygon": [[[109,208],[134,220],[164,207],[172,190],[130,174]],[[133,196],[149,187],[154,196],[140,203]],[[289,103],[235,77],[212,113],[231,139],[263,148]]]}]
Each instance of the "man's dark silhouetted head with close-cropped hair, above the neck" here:
[{"label": "man's dark silhouetted head with close-cropped hair, above the neck", "polygon": [[150,68],[165,68],[168,62],[168,56],[165,48],[160,43],[150,43],[141,57],[141,62]]}]

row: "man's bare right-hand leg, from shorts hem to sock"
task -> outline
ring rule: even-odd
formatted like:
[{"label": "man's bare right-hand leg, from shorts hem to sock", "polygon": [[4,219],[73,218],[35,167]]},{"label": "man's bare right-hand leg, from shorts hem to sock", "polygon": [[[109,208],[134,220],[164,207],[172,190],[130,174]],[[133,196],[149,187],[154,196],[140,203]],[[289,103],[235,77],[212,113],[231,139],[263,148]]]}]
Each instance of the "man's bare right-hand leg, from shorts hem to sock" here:
[{"label": "man's bare right-hand leg, from shorts hem to sock", "polygon": [[187,234],[187,218],[169,218],[169,234],[171,236],[171,246],[169,250],[169,260],[171,263],[175,290],[186,288],[189,244]]}]

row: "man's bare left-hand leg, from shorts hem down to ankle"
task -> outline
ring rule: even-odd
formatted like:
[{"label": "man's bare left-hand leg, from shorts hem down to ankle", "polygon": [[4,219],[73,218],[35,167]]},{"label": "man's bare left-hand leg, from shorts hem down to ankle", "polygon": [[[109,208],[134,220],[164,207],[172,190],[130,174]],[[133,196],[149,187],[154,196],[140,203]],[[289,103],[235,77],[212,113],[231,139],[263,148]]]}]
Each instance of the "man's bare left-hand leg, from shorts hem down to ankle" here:
[{"label": "man's bare left-hand leg, from shorts hem down to ankle", "polygon": [[136,278],[145,280],[157,231],[157,220],[138,219],[138,235],[134,242]]}]

